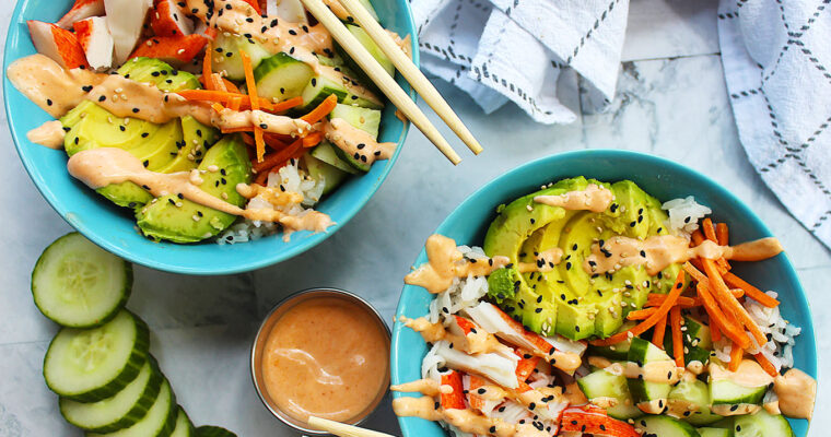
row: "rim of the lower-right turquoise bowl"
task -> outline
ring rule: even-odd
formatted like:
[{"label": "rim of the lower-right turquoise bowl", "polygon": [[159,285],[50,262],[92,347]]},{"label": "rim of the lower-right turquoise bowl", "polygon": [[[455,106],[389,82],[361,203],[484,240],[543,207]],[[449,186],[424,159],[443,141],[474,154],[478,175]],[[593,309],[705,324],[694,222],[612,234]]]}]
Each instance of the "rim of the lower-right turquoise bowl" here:
[{"label": "rim of the lower-right turquoise bowl", "polygon": [[[768,236],[773,236],[773,234],[770,232],[768,226],[762,222],[761,218],[750,209],[748,208],[745,202],[742,202],[740,199],[738,199],[736,196],[734,196],[730,191],[722,187],[721,184],[716,182],[709,176],[691,168],[688,166],[684,166],[682,164],[676,163],[674,161],[670,161],[668,158],[657,156],[657,155],[651,155],[646,153],[641,152],[634,152],[634,151],[627,151],[627,150],[615,150],[615,149],[588,149],[588,150],[576,150],[576,151],[569,151],[569,152],[561,152],[555,153],[552,155],[543,156],[530,162],[527,162],[525,164],[522,164],[517,167],[514,167],[510,169],[506,173],[503,173],[502,175],[491,179],[490,181],[485,182],[483,186],[481,186],[479,189],[473,191],[471,194],[469,194],[465,200],[461,201],[448,215],[445,217],[444,221],[436,227],[434,233],[441,234],[443,229],[446,229],[452,226],[453,223],[459,221],[461,218],[461,211],[466,210],[467,205],[470,203],[477,202],[481,198],[487,198],[489,192],[493,190],[493,187],[498,185],[506,184],[507,180],[511,180],[512,178],[515,178],[516,175],[523,173],[526,168],[529,167],[536,167],[536,166],[542,166],[546,165],[548,162],[567,162],[570,160],[577,160],[577,158],[586,158],[586,157],[594,157],[594,158],[607,158],[607,160],[615,160],[615,158],[634,158],[643,161],[647,164],[652,164],[656,167],[665,168],[667,173],[670,174],[684,174],[692,179],[700,179],[704,182],[704,187],[709,191],[713,191],[717,197],[726,199],[728,202],[734,203],[737,209],[744,214],[745,220],[751,222],[751,225],[753,227],[758,227],[762,231],[763,234]],[[501,199],[501,201],[511,201],[513,199]],[[461,244],[470,244],[470,241],[460,241]],[[793,304],[795,306],[799,307],[799,310],[801,310],[806,315],[806,320],[804,323],[799,326],[801,328],[800,335],[808,334],[811,339],[812,347],[809,349],[809,354],[806,357],[808,361],[809,367],[808,369],[801,369],[805,370],[808,375],[811,375],[817,381],[819,381],[819,368],[817,366],[817,338],[814,330],[814,317],[810,310],[810,304],[808,302],[808,297],[805,294],[805,290],[803,288],[801,282],[799,281],[799,276],[796,273],[796,269],[794,269],[794,265],[791,262],[789,257],[786,252],[782,252],[784,257],[780,260],[780,262],[783,263],[784,270],[786,272],[786,275],[788,279],[795,284],[795,287],[793,288],[794,295],[797,297]],[[425,249],[422,247],[419,251],[419,255],[417,256],[414,262],[412,265],[420,264],[422,262],[425,262],[426,260],[426,253]],[[398,305],[396,306],[396,316],[397,319],[399,316],[403,315],[403,307],[405,307],[405,296],[410,294],[411,290],[417,290],[418,287],[413,285],[407,285],[405,284],[401,294],[398,299]],[[400,351],[399,347],[399,339],[401,335],[401,332],[403,330],[403,326],[401,323],[394,323],[393,326],[393,343],[390,344],[390,363],[389,363],[389,369],[390,369],[390,381],[391,383],[401,383],[400,381],[400,375],[399,369],[402,366],[402,363],[406,358],[402,357],[403,351]],[[393,398],[397,399],[405,395],[405,393],[400,392],[393,392]],[[816,409],[816,404],[815,404]],[[400,417],[397,416],[398,424],[401,427],[402,435],[405,437],[408,436],[407,430],[410,429],[410,426],[408,425],[408,422],[410,420],[413,420],[414,417]],[[810,421],[807,421],[808,425],[806,427],[806,436],[808,435],[808,430],[810,429]]]}]

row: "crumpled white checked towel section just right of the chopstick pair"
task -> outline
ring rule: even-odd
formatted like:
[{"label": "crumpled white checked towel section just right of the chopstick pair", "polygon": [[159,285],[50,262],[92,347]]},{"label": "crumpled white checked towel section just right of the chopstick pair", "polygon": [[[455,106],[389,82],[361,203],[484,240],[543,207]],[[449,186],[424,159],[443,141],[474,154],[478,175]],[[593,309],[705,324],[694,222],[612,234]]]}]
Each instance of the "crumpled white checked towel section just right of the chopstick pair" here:
[{"label": "crumpled white checked towel section just right of the chopstick pair", "polygon": [[514,102],[545,123],[577,118],[558,98],[572,68],[597,110],[615,96],[629,0],[411,0],[422,68],[485,113]]}]

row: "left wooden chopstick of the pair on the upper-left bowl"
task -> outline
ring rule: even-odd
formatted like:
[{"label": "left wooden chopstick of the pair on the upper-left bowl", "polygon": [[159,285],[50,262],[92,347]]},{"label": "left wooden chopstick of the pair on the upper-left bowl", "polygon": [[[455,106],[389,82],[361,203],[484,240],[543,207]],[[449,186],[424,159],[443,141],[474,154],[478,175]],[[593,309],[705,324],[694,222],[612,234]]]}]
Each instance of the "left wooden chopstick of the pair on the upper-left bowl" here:
[{"label": "left wooden chopstick of the pair on the upper-left bowl", "polygon": [[461,162],[461,158],[453,150],[447,140],[442,137],[438,130],[430,122],[424,113],[419,109],[419,106],[410,99],[410,96],[401,90],[396,81],[384,70],[383,67],[375,60],[375,58],[366,51],[363,45],[347,29],[343,23],[324,4],[321,0],[301,0],[303,5],[312,12],[312,15],[326,27],[331,36],[337,40],[341,47],[354,59],[366,75],[372,79],[375,85],[393,102],[398,109],[403,113],[419,130],[433,143],[436,147],[447,156],[450,162],[456,165]]}]

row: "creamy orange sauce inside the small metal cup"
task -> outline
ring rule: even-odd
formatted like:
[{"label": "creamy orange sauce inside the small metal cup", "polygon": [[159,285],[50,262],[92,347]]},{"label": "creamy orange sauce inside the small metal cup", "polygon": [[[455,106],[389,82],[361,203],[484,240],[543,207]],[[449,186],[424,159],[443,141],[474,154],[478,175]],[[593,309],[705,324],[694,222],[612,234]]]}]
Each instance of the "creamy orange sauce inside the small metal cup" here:
[{"label": "creamy orange sauce inside the small metal cup", "polygon": [[274,323],[262,375],[276,406],[292,417],[354,423],[385,391],[388,354],[389,339],[374,315],[349,300],[311,298]]}]

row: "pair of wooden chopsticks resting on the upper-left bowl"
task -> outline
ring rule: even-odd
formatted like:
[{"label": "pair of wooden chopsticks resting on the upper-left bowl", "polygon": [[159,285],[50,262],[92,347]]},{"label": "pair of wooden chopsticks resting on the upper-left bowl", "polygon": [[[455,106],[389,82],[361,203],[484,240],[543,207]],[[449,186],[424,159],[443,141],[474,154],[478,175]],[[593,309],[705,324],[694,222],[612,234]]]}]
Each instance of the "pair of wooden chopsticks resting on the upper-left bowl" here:
[{"label": "pair of wooden chopsticks resting on the upper-left bowl", "polygon": [[[401,90],[396,81],[387,74],[383,67],[370,55],[366,48],[347,29],[343,23],[332,13],[321,0],[301,0],[312,15],[331,33],[332,37],[347,50],[349,56],[358,62],[364,72],[372,79],[378,88],[398,107],[435,146],[456,165],[461,158],[453,150],[447,140],[430,122],[418,105]],[[382,51],[393,61],[396,69],[407,79],[407,82],[421,95],[431,108],[444,120],[450,129],[467,144],[475,154],[482,151],[479,141],[473,138],[468,128],[461,122],[456,113],[450,109],[447,102],[442,98],[438,91],[421,73],[410,58],[401,51],[401,48],[393,40],[381,24],[372,17],[359,0],[340,0],[341,4],[355,19],[358,24],[370,35]]]}]

